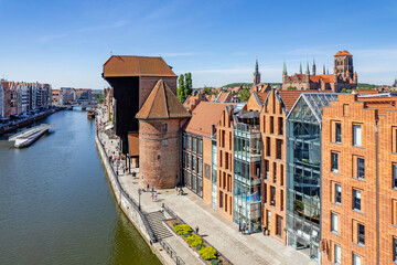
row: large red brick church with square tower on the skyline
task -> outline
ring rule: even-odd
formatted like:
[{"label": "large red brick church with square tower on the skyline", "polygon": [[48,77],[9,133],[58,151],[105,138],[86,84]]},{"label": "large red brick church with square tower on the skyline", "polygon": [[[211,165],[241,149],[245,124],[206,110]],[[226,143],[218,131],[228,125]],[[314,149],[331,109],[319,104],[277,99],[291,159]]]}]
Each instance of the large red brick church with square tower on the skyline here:
[{"label": "large red brick church with square tower on the skyline", "polygon": [[282,71],[282,89],[287,89],[288,87],[294,87],[298,91],[319,89],[341,92],[343,88],[355,89],[357,87],[357,73],[355,73],[353,68],[353,55],[347,51],[339,51],[334,55],[333,74],[325,74],[324,68],[322,75],[316,75],[315,62],[313,62],[311,74],[308,64],[304,74],[301,65],[299,74],[288,75],[285,64]]}]

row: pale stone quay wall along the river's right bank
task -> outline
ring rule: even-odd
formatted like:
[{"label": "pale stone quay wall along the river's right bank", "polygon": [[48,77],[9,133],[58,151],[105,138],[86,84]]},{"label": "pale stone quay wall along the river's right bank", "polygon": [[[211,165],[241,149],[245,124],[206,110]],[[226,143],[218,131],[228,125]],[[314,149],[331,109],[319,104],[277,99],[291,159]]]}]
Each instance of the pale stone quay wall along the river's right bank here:
[{"label": "pale stone quay wall along the river's right bank", "polygon": [[129,195],[121,188],[120,182],[117,179],[117,176],[109,162],[109,158],[106,155],[105,148],[104,148],[101,141],[99,140],[99,137],[97,134],[95,135],[95,144],[97,146],[100,160],[106,170],[106,176],[110,182],[110,187],[115,194],[117,204],[125,212],[125,214],[130,220],[130,222],[136,226],[138,232],[143,236],[143,239],[147,241],[147,243],[149,244],[151,250],[155,253],[155,255],[160,258],[160,261],[163,264],[167,264],[167,262],[163,259],[161,254],[158,253],[157,247],[152,247],[152,243],[157,242],[153,231],[151,230],[142,211],[140,211],[138,209],[137,203],[132,200],[132,198],[129,198]]}]

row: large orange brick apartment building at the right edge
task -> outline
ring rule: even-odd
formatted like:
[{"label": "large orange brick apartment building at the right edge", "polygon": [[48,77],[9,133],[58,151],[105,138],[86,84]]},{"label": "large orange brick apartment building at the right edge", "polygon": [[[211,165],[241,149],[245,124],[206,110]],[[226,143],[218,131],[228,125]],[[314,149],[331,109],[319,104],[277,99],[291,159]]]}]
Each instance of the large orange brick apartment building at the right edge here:
[{"label": "large orange brick apartment building at the right edge", "polygon": [[396,100],[340,95],[323,110],[322,264],[397,261]]}]

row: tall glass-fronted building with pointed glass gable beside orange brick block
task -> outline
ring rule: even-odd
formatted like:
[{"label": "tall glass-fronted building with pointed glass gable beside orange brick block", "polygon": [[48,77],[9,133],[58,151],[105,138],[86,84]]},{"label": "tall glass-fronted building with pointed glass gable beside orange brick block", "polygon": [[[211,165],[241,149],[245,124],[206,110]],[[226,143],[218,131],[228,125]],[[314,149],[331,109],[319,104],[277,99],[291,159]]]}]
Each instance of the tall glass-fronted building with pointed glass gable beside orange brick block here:
[{"label": "tall glass-fronted building with pointed glass gable beside orange brick block", "polygon": [[287,244],[319,259],[321,118],[334,93],[304,93],[287,116]]}]

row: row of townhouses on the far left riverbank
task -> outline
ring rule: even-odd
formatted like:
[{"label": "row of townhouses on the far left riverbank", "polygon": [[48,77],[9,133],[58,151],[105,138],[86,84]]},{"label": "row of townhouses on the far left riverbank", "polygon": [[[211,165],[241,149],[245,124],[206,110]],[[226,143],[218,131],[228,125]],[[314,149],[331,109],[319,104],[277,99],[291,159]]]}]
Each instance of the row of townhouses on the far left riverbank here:
[{"label": "row of townhouses on the far left riverbank", "polygon": [[50,84],[0,80],[0,117],[28,114],[51,105]]}]

